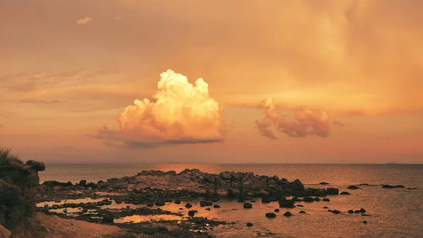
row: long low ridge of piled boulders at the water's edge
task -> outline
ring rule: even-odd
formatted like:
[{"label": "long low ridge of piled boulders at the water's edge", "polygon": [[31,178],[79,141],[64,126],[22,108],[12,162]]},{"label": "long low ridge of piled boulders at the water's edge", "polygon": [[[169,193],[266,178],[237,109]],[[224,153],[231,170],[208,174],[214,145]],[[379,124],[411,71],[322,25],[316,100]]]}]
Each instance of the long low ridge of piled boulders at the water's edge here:
[{"label": "long low ridge of piled boulders at the water's edge", "polygon": [[[43,189],[55,186],[73,186],[72,184],[48,181],[42,185]],[[87,186],[80,182],[78,186]],[[121,179],[107,179],[95,184],[99,191],[133,191],[146,193],[148,191],[166,191],[167,196],[228,196],[238,198],[244,202],[246,197],[262,197],[264,203],[278,201],[281,196],[307,196],[300,180],[288,182],[277,176],[259,176],[252,172],[221,172],[209,174],[198,169],[185,169],[180,173],[163,172],[157,170],[142,171],[133,177]],[[310,194],[313,195],[313,194]],[[266,197],[267,196],[267,197]],[[212,197],[207,200],[213,201]],[[269,199],[267,199],[269,198]]]}]

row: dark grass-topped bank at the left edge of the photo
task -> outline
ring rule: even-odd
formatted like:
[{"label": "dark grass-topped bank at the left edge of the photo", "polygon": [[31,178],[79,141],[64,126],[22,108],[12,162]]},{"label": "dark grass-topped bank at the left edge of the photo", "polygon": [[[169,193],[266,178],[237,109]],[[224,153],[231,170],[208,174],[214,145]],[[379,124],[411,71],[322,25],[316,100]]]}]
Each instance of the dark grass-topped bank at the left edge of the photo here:
[{"label": "dark grass-topped bank at the left edge of the photo", "polygon": [[10,150],[0,148],[0,225],[12,233],[35,214],[38,172],[44,169],[42,162],[24,164]]}]

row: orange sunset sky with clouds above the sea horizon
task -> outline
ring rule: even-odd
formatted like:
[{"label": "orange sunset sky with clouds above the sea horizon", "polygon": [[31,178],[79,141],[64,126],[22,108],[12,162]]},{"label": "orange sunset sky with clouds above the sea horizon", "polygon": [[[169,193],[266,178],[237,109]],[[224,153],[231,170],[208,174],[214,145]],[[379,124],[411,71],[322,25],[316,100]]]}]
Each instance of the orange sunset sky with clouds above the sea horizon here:
[{"label": "orange sunset sky with clouds above the sea horizon", "polygon": [[423,163],[422,8],[0,0],[0,145],[66,163]]}]

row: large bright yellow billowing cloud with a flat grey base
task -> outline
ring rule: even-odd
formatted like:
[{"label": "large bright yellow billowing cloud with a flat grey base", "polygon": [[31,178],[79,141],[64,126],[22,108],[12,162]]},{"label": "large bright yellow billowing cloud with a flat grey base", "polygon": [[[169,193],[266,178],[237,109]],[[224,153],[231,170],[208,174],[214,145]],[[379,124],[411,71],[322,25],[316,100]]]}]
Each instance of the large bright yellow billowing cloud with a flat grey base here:
[{"label": "large bright yellow billowing cloud with a flat grey base", "polygon": [[209,85],[202,78],[192,85],[171,69],[160,77],[156,102],[135,100],[118,114],[119,130],[104,126],[95,137],[106,145],[130,148],[223,141],[227,128]]}]

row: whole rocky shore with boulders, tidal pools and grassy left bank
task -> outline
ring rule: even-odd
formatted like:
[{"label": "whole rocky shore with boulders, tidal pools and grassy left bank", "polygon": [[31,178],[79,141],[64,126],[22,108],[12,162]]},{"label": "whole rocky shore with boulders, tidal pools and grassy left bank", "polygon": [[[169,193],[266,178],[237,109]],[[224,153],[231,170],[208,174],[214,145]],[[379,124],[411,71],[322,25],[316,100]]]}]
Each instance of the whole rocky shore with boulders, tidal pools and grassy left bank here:
[{"label": "whole rocky shore with boulders, tidal pools and grassy left bank", "polygon": [[[238,225],[214,218],[224,209],[254,210],[257,203],[269,203],[276,207],[266,206],[263,217],[274,219],[281,208],[281,215],[289,218],[306,214],[304,210],[294,214],[291,208],[317,202],[326,205],[331,196],[350,195],[327,182],[318,184],[318,189],[306,188],[298,179],[289,182],[252,172],[209,174],[199,169],[180,173],[142,171],[132,177],[97,183],[81,180],[76,184],[39,184],[37,173],[45,168],[42,162],[29,160],[24,164],[7,154],[0,159],[0,237],[86,237],[87,232],[92,237],[213,237],[219,227]],[[352,192],[362,186],[372,185],[345,189]],[[405,189],[402,185],[380,186]],[[320,208],[333,214],[369,216],[364,208]],[[241,225],[254,226],[252,222]]]}]

